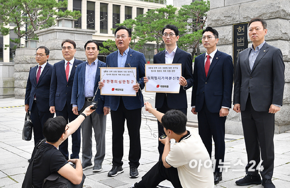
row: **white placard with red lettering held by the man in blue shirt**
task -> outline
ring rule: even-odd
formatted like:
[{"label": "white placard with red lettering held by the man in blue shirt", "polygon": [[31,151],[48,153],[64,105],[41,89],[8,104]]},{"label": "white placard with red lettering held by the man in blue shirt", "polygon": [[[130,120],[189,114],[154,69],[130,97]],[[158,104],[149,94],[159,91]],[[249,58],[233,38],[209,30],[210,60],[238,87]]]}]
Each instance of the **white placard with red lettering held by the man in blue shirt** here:
[{"label": "white placard with red lettering held by the man in blue shirt", "polygon": [[101,95],[136,96],[136,67],[100,67]]}]

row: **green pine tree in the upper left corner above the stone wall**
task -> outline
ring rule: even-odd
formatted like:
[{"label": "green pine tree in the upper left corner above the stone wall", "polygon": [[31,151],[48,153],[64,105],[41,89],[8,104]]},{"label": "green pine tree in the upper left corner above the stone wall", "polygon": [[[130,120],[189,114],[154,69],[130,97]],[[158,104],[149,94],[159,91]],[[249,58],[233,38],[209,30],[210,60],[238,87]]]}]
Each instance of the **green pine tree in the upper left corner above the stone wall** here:
[{"label": "green pine tree in the upper left corner above the stone wall", "polygon": [[21,37],[37,39],[34,31],[51,27],[55,24],[55,18],[80,17],[79,11],[63,12],[60,8],[64,7],[67,7],[67,0],[0,0],[0,32],[7,35],[9,28],[5,25],[13,23],[18,38],[12,42],[20,44]]}]

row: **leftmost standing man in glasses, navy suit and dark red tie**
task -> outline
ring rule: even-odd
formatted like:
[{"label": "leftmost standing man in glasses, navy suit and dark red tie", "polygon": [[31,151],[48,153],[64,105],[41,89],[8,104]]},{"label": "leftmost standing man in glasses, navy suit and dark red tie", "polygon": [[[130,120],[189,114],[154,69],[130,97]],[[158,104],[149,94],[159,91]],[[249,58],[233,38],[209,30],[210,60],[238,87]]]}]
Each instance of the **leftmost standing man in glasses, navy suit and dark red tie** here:
[{"label": "leftmost standing man in glasses, navy suit and dark red tie", "polygon": [[33,124],[34,144],[44,138],[42,127],[53,114],[49,112],[49,87],[52,65],[48,63],[49,49],[39,46],[36,49],[35,60],[38,63],[29,71],[26,92],[25,111],[30,111]]}]

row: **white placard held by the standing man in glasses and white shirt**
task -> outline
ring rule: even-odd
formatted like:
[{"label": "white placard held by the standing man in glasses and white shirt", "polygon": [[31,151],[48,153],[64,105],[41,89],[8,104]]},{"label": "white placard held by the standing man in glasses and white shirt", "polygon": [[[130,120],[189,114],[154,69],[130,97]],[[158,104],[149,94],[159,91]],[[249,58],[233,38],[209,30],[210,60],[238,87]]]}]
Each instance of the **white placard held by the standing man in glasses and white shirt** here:
[{"label": "white placard held by the standing man in glasses and white shirt", "polygon": [[146,92],[179,93],[181,64],[145,64]]}]

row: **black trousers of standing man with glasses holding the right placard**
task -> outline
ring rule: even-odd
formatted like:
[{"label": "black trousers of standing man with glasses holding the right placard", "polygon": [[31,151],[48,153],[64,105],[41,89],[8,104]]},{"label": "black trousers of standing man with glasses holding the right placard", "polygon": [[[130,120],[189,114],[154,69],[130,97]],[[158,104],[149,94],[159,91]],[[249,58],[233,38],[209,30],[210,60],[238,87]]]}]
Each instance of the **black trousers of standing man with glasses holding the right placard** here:
[{"label": "black trousers of standing man with glasses holding the right placard", "polygon": [[[164,97],[164,101],[163,101],[163,105],[161,106],[161,108],[157,108],[157,111],[165,114],[167,111],[172,110],[170,108],[168,108],[167,105],[167,98],[166,96]],[[187,115],[187,108],[183,108],[183,109],[176,109],[176,110],[180,110],[181,112],[183,112],[185,115]],[[164,129],[162,124],[157,120],[157,124],[158,124],[158,136],[161,136],[162,134],[165,135]],[[158,138],[157,138],[158,139]],[[158,152],[159,152],[159,160],[162,159],[162,154],[163,154],[163,150],[164,150],[164,144],[162,144],[159,140],[158,140]]]}]

